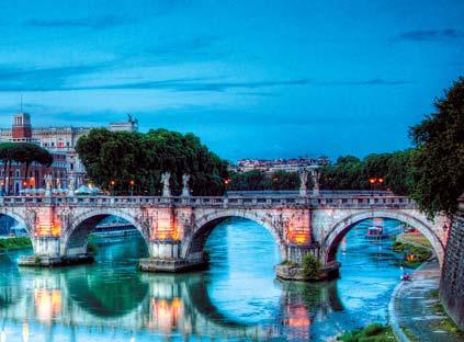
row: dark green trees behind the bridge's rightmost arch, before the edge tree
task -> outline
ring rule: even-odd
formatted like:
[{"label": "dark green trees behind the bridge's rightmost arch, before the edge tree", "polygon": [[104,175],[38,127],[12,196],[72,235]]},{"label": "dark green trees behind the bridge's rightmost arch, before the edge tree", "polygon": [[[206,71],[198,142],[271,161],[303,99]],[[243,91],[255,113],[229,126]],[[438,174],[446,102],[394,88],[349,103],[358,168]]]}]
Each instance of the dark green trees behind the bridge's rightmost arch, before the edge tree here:
[{"label": "dark green trees behind the bridge's rightmost arch, before the edge tree", "polygon": [[[363,160],[353,156],[340,157],[335,164],[321,169],[320,186],[327,190],[391,190],[407,195],[410,187],[412,150],[370,155]],[[383,179],[374,186],[370,179]]]}]

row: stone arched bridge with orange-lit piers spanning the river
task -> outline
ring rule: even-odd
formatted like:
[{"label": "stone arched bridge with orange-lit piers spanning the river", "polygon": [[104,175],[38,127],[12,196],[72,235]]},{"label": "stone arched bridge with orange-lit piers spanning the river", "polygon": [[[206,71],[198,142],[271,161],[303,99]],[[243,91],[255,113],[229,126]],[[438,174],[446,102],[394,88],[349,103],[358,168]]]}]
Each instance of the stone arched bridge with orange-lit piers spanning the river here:
[{"label": "stone arched bridge with orange-lit piers spanning the river", "polygon": [[[134,225],[150,256],[143,271],[176,272],[205,263],[204,244],[218,223],[244,217],[268,229],[282,260],[301,264],[307,253],[321,263],[325,275],[336,273],[339,242],[347,231],[367,218],[392,218],[417,228],[443,261],[450,223],[430,220],[414,201],[388,192],[242,192],[225,196],[49,196],[0,197],[0,215],[23,225],[35,255],[27,265],[50,265],[86,260],[89,233],[106,216]],[[301,267],[279,266],[282,278],[302,278]]]}]

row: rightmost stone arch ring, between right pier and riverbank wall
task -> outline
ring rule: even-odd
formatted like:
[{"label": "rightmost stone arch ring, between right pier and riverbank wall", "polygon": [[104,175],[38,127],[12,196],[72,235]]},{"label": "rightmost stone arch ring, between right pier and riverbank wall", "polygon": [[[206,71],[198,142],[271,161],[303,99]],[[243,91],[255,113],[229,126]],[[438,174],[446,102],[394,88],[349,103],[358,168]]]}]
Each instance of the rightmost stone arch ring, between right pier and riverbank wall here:
[{"label": "rightmost stone arch ring, between right pier and riverbank wall", "polygon": [[325,237],[322,242],[322,250],[325,253],[324,261],[326,264],[335,260],[339,242],[346,233],[357,224],[370,218],[395,219],[416,228],[430,241],[440,264],[442,263],[444,256],[444,246],[430,223],[425,223],[423,219],[398,209],[374,209],[348,215],[330,228],[329,233]]}]

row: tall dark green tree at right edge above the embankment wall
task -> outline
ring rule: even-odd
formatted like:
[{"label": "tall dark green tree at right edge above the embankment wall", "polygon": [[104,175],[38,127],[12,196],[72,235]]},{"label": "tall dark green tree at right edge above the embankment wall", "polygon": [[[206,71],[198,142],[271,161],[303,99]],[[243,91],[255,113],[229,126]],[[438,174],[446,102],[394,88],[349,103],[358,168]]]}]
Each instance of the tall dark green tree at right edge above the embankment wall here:
[{"label": "tall dark green tree at right edge above the embankment wall", "polygon": [[464,78],[435,100],[437,112],[409,134],[417,149],[412,158],[412,198],[430,217],[452,215],[464,193]]}]

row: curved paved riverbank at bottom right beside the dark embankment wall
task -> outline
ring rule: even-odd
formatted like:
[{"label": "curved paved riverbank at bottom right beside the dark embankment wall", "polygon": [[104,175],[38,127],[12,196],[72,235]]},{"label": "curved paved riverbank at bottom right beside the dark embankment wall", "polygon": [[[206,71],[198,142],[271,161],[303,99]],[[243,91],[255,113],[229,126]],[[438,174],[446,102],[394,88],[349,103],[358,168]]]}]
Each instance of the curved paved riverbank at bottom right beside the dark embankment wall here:
[{"label": "curved paved riverbank at bottom right beside the dark embankment wall", "polygon": [[439,284],[440,266],[433,260],[417,269],[411,282],[398,285],[392,295],[391,323],[399,341],[464,341],[464,332],[444,314]]}]

